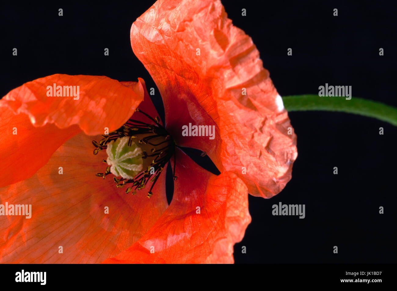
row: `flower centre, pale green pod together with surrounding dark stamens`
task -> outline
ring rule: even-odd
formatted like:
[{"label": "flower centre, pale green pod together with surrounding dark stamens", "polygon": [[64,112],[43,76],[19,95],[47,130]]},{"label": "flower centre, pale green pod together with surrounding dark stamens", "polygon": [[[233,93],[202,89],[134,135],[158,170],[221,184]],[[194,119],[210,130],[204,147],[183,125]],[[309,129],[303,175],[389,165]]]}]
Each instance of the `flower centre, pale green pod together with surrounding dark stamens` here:
[{"label": "flower centre, pale green pod together with surrounding dark stamens", "polygon": [[[106,150],[108,154],[108,159],[102,160],[102,162],[108,164],[106,171],[97,173],[96,176],[105,179],[107,175],[113,173],[116,187],[122,188],[125,184],[131,184],[131,186],[127,187],[125,193],[132,192],[132,195],[135,195],[137,190],[145,188],[146,184],[150,182],[152,184],[147,194],[148,198],[150,198],[153,195],[152,189],[164,166],[175,154],[175,143],[166,129],[160,124],[158,116],[152,118],[139,110],[139,108],[135,111],[145,115],[154,124],[129,119],[119,129],[110,132],[108,135],[102,135],[103,138],[99,142],[93,141],[95,155],[102,150]],[[156,146],[162,144],[166,145],[156,148]],[[148,157],[153,159],[148,159]],[[136,160],[135,158],[141,160]],[[173,176],[176,180],[175,163],[176,159],[174,156]],[[133,189],[134,187],[135,189]]]}]

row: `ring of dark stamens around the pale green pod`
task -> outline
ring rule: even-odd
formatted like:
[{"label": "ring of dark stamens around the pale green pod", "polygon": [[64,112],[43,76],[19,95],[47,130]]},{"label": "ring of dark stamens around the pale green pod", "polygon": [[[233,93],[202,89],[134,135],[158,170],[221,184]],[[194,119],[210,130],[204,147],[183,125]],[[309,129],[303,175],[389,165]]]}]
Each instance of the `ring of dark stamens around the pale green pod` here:
[{"label": "ring of dark stamens around the pale green pod", "polygon": [[[110,132],[108,135],[102,135],[103,139],[99,142],[93,141],[93,145],[95,146],[94,155],[98,154],[99,151],[106,150],[110,142],[116,141],[122,137],[129,137],[128,146],[135,143],[145,149],[142,152],[142,159],[145,161],[144,165],[147,165],[147,167],[144,167],[144,171],[141,171],[133,179],[125,179],[123,177],[117,178],[115,176],[113,180],[118,188],[122,188],[126,184],[131,184],[128,185],[129,187],[125,190],[125,193],[133,191],[132,194],[136,194],[137,190],[145,188],[148,181],[150,181],[152,182],[152,186],[147,194],[150,198],[150,196],[153,195],[152,189],[154,184],[172,156],[174,156],[173,177],[174,180],[177,178],[175,176],[175,143],[171,135],[160,124],[160,118],[158,116],[152,118],[145,112],[139,110],[139,108],[135,111],[152,120],[153,124],[130,118],[119,129]],[[102,160],[102,162],[108,163],[106,160]],[[104,173],[97,173],[96,176],[105,179],[105,177],[111,173],[110,168],[110,166],[106,167]]]}]

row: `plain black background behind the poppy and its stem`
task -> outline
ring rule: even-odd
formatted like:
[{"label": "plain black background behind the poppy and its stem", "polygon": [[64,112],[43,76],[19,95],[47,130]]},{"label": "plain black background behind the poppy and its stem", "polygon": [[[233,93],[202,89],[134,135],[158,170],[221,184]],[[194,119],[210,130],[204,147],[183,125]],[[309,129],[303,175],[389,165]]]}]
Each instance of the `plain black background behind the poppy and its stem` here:
[{"label": "plain black background behind the poppy and its stem", "polygon": [[[2,3],[0,96],[56,73],[120,81],[142,77],[148,88],[155,87],[129,39],[131,24],[152,3]],[[352,86],[353,97],[397,106],[396,4],[223,4],[233,24],[252,37],[281,96],[317,94],[318,86],[328,83]],[[109,48],[109,56],[104,56],[104,48]],[[292,56],[287,56],[287,48],[293,49]],[[379,48],[384,48],[384,56]],[[249,197],[252,223],[234,247],[235,262],[396,262],[396,127],[336,112],[290,112],[289,117],[298,137],[293,178],[274,198]],[[384,135],[379,135],[379,127],[384,127]],[[333,175],[335,166],[338,175]],[[279,201],[305,204],[306,217],[273,216],[272,205]],[[380,206],[384,214],[379,214]],[[247,253],[241,253],[242,246]]]}]

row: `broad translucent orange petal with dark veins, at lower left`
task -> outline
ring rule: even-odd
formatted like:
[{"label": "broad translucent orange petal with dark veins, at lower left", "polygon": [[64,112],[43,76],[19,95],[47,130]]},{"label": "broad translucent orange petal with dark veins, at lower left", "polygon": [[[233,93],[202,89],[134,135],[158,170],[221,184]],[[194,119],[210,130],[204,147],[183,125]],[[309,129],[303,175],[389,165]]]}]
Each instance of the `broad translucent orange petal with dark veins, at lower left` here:
[{"label": "broad translucent orange petal with dark veins, at lower left", "polygon": [[166,210],[165,175],[150,199],[143,190],[116,188],[112,175],[96,177],[106,169],[106,153],[93,156],[91,141],[98,138],[75,135],[31,178],[0,188],[0,204],[31,205],[30,219],[0,216],[0,262],[102,262],[141,238]]}]

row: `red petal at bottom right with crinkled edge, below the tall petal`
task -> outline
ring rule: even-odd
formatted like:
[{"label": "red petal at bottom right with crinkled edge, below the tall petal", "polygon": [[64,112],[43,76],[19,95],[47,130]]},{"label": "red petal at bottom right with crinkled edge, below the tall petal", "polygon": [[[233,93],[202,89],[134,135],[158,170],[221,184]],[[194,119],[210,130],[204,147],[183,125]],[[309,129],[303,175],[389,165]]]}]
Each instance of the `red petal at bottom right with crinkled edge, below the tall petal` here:
[{"label": "red petal at bottom right with crinkled edge, below the tall petal", "polygon": [[233,263],[233,245],[251,222],[247,186],[233,173],[209,173],[180,150],[177,173],[173,200],[162,217],[104,263]]}]

